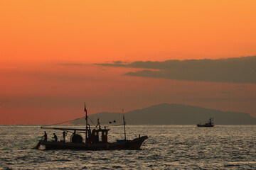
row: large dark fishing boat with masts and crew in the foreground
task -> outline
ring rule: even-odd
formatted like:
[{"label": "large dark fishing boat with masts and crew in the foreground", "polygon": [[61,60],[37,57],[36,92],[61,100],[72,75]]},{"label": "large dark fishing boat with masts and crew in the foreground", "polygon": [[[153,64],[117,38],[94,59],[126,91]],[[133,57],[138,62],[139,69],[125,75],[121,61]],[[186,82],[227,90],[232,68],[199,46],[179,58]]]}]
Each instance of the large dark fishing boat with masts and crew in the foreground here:
[{"label": "large dark fishing boat with masts and crew in the foreground", "polygon": [[[51,130],[62,130],[63,140],[58,141],[48,141],[47,139],[40,140],[38,145],[34,149],[39,149],[43,146],[45,149],[80,149],[80,150],[137,150],[140,149],[142,143],[148,138],[147,136],[137,136],[133,140],[127,140],[126,130],[125,130],[125,120],[124,120],[124,110],[123,111],[123,125],[124,125],[124,139],[117,140],[115,142],[108,142],[108,132],[110,129],[102,128],[100,125],[99,118],[97,120],[97,125],[95,128],[91,129],[88,123],[87,109],[85,107],[85,129],[82,128],[50,128],[41,127],[42,129]],[[70,141],[65,141],[65,132],[72,131],[73,134],[70,136]],[[85,133],[85,137],[82,137],[82,133]]]}]

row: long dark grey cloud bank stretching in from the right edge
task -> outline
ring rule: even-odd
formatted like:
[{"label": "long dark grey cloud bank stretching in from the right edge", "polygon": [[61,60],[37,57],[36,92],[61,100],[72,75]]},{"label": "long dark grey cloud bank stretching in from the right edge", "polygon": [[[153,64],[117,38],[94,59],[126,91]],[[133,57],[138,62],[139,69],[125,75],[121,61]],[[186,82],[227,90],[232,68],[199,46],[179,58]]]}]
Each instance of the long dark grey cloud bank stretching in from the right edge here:
[{"label": "long dark grey cloud bank stretching in from the right edge", "polygon": [[256,56],[218,60],[167,60],[164,62],[114,62],[108,67],[133,67],[144,70],[124,75],[186,81],[256,83]]}]

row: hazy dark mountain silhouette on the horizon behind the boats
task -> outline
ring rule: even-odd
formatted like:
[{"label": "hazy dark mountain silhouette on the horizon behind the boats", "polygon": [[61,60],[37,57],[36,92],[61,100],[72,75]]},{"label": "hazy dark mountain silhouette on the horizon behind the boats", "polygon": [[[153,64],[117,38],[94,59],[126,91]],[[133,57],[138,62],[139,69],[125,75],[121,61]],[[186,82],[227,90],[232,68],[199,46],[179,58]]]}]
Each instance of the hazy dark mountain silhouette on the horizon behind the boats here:
[{"label": "hazy dark mountain silhouette on the horizon behind the boats", "polygon": [[[124,113],[125,121],[130,125],[196,125],[205,123],[209,118],[214,119],[215,125],[255,125],[256,118],[247,113],[224,112],[214,109],[188,106],[183,104],[161,103],[148,108],[137,109]],[[89,115],[90,120],[101,124],[122,124],[122,113],[101,112]],[[73,124],[85,124],[85,118],[71,122]],[[90,123],[91,124],[91,123]]]}]

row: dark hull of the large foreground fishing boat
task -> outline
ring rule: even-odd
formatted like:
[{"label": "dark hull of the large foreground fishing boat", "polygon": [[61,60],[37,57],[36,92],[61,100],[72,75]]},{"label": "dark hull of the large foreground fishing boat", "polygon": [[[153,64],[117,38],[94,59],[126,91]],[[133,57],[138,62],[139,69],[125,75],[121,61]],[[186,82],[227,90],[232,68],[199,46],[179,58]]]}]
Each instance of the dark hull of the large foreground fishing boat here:
[{"label": "dark hull of the large foreground fishing boat", "polygon": [[127,140],[124,142],[112,142],[112,143],[95,143],[95,144],[85,144],[85,143],[72,143],[72,142],[50,142],[50,141],[39,141],[38,147],[44,145],[46,149],[79,149],[79,150],[138,150],[142,146],[144,140],[148,137],[143,136],[136,138],[134,140]]}]

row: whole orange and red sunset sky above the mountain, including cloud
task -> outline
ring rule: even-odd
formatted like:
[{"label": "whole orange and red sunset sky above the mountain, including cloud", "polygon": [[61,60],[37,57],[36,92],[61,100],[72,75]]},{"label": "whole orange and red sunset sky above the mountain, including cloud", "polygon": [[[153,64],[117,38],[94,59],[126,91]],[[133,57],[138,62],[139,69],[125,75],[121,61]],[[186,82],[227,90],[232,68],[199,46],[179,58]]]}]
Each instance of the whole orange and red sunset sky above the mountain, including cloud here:
[{"label": "whole orange and red sunset sky above the mountain, including cloud", "polygon": [[0,1],[0,124],[159,103],[256,117],[254,0]]}]

